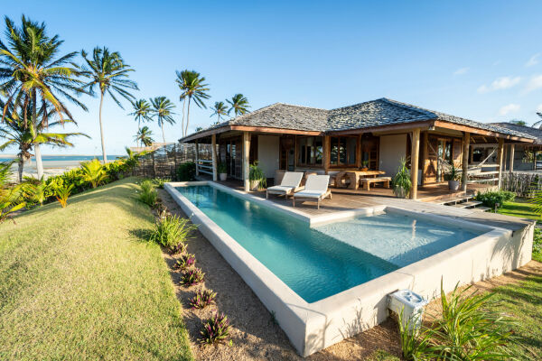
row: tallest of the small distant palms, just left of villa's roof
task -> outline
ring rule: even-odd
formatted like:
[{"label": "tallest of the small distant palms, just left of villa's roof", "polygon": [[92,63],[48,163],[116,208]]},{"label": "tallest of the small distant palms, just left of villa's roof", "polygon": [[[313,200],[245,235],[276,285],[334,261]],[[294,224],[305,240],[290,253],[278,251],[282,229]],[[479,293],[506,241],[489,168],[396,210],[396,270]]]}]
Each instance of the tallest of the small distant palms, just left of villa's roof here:
[{"label": "tallest of the small distant palms, just left of villa's roof", "polygon": [[[193,99],[196,106],[206,108],[203,103],[204,99],[209,99],[210,95],[207,94],[209,84],[203,84],[205,78],[200,76],[200,73],[194,70],[182,70],[176,71],[177,79],[175,80],[181,89],[181,97],[179,99],[182,101],[182,136],[186,136],[188,133],[188,125],[190,122],[190,103]],[[184,124],[184,105],[186,103],[186,98],[188,98],[188,108],[186,112],[186,125]]]}]

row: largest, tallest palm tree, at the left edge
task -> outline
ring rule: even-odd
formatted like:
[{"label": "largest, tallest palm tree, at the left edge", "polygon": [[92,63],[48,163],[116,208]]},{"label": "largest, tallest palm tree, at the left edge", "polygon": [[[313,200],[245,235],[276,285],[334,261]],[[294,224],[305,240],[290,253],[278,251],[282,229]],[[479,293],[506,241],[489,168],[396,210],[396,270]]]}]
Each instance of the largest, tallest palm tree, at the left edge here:
[{"label": "largest, tallest palm tree, at the left edge", "polygon": [[[5,120],[8,108],[14,112],[26,111],[32,104],[31,116],[23,117],[24,127],[37,133],[38,107],[51,105],[54,113],[64,121],[64,116],[73,119],[61,97],[80,106],[87,107],[73,97],[83,90],[79,87],[79,69],[73,65],[76,51],[57,56],[63,41],[58,35],[47,35],[45,23],[33,22],[24,15],[21,27],[5,17],[5,36],[7,43],[0,41],[0,92],[6,101],[2,121]],[[30,122],[27,120],[30,119]],[[45,119],[47,126],[47,119]],[[36,156],[38,178],[43,176],[42,151],[40,143],[33,143]]]}]

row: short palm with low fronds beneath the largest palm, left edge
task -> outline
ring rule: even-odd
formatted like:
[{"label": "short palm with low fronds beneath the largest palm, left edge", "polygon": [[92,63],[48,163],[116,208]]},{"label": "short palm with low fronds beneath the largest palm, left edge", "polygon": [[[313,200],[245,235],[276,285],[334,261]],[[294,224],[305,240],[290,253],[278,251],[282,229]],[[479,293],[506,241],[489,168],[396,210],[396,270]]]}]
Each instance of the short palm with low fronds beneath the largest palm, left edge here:
[{"label": "short palm with low fronds beneath the largest palm, left edge", "polygon": [[[0,101],[0,106],[4,106],[4,103]],[[73,143],[70,143],[69,138],[73,136],[83,135],[89,137],[87,134],[82,133],[49,133],[49,128],[56,125],[63,125],[66,123],[77,124],[72,119],[63,119],[63,121],[56,121],[53,123],[46,123],[49,118],[55,116],[54,109],[40,108],[38,116],[40,117],[40,123],[36,126],[28,126],[31,121],[25,119],[25,116],[31,114],[32,104],[28,104],[26,109],[21,109],[19,113],[11,113],[10,109],[6,109],[5,125],[0,126],[0,138],[5,138],[5,143],[0,143],[0,152],[4,151],[10,146],[17,146],[19,153],[17,153],[18,161],[18,180],[23,181],[23,168],[24,163],[32,157],[32,150],[36,145],[47,144],[59,147],[72,147]],[[47,113],[44,113],[47,112]],[[37,163],[37,162],[36,162]],[[42,179],[42,177],[38,178]]]}]

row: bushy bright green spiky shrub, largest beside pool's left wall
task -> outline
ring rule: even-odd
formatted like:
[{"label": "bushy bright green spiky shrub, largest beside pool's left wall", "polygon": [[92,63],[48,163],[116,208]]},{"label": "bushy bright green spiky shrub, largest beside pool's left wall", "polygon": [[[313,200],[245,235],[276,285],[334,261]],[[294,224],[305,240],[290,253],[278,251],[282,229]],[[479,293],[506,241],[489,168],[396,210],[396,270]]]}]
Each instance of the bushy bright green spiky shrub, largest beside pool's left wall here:
[{"label": "bushy bright green spiky shrub, largest beside pool's left wall", "polygon": [[156,222],[150,239],[159,245],[173,250],[186,242],[194,229],[196,227],[189,224],[188,218],[167,215]]}]

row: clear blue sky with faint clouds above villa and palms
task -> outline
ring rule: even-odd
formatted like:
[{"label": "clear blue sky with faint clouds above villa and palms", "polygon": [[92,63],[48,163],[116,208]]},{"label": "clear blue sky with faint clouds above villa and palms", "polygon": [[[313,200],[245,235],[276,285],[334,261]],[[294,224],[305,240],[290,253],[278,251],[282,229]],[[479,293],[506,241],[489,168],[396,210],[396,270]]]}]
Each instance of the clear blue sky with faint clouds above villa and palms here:
[{"label": "clear blue sky with faint clouds above villa and palms", "polygon": [[[539,1],[78,3],[26,0],[2,10],[17,23],[21,14],[47,23],[65,40],[63,52],[120,51],[136,70],[136,97],[166,96],[177,105],[167,141],[181,135],[176,69],[207,78],[209,105],[240,92],[253,110],[390,97],[481,122],[532,123],[542,111]],[[92,139],[44,153],[99,153],[98,98],[82,98],[89,112],[73,106],[73,114]],[[111,99],[104,105],[107,153],[134,144],[136,124],[125,107]],[[210,125],[210,114],[194,107],[190,128]],[[160,140],[159,127],[150,126]]]}]

